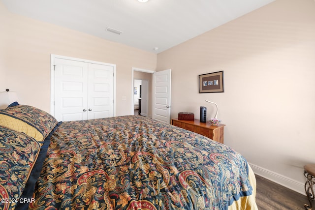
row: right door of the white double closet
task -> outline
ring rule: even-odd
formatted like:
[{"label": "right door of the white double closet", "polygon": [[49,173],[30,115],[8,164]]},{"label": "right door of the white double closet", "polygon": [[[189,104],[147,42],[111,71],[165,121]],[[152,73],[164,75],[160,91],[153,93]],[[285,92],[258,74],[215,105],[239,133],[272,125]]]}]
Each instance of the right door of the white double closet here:
[{"label": "right door of the white double closet", "polygon": [[89,63],[88,119],[113,117],[114,67]]}]

